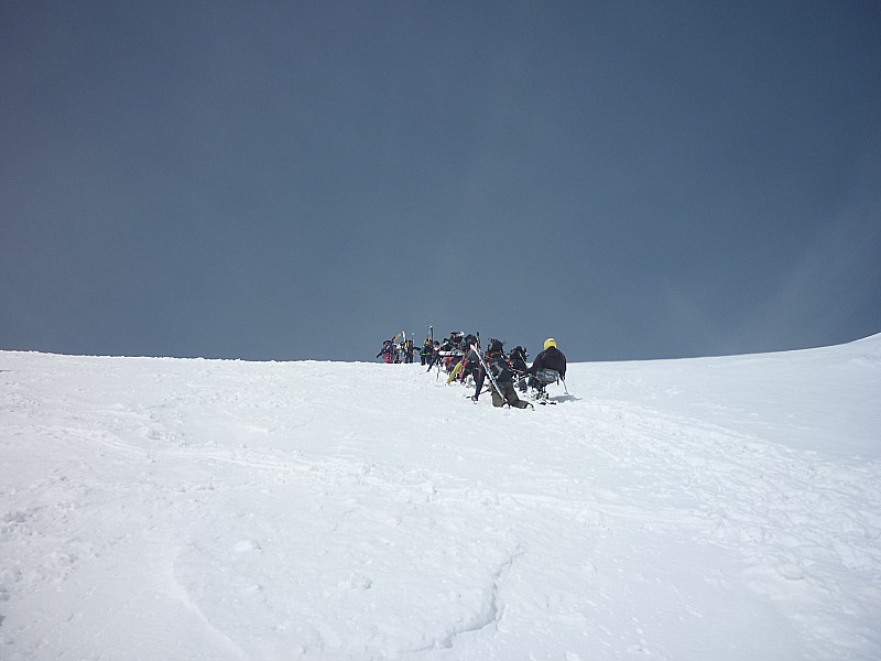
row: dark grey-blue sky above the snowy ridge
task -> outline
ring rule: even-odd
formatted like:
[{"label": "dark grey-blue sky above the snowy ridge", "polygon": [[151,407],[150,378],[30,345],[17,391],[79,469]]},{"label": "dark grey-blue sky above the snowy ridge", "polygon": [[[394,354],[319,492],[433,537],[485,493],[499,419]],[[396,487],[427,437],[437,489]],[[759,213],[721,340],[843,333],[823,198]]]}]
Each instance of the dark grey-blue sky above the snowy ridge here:
[{"label": "dark grey-blue sky above the snowy ridge", "polygon": [[875,2],[2,2],[0,348],[881,332]]}]

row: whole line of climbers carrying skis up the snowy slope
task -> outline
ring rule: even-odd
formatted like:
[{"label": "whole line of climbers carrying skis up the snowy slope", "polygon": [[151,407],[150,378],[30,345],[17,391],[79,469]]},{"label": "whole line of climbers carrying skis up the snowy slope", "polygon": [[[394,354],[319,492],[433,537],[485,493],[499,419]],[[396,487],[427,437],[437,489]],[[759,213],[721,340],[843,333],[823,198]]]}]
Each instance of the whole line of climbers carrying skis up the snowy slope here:
[{"label": "whole line of climbers carrying skis up the snowy slope", "polygon": [[[383,357],[385,362],[400,362],[400,359],[394,359],[395,354],[402,353],[395,339],[385,340],[377,358]],[[413,343],[406,342],[410,343],[410,359],[403,350],[403,361],[412,362]],[[503,343],[491,338],[483,351],[477,336],[461,332],[450,333],[443,342],[427,337],[422,348],[415,350],[420,351],[421,362],[427,366],[427,371],[435,367],[444,369],[449,375],[447,383],[455,380],[466,383],[470,378],[475,384],[471,400],[477,402],[481,394],[489,392],[496,407],[532,408],[529,401],[518,397],[518,390],[525,393],[527,388],[534,390],[535,400],[546,403],[548,397],[545,388],[561,380],[565,383],[566,380],[566,356],[557,348],[553,337],[544,342],[543,350],[532,366],[526,364],[529,354],[522,346],[505,354]]]}]

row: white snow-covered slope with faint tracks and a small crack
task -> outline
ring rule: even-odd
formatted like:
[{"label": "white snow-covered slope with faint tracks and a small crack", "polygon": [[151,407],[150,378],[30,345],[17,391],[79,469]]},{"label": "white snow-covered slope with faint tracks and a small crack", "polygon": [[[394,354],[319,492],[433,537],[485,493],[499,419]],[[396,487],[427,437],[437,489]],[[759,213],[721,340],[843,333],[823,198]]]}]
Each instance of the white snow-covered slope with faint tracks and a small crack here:
[{"label": "white snow-covered slope with faint tracks and a small crack", "polygon": [[0,353],[0,659],[881,659],[881,336],[570,366]]}]

